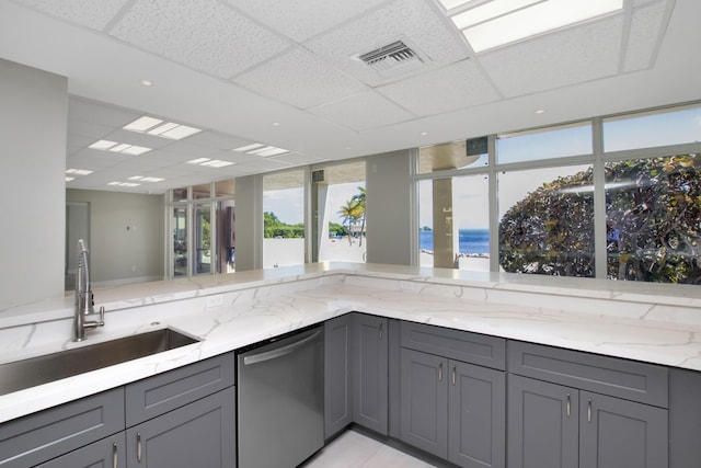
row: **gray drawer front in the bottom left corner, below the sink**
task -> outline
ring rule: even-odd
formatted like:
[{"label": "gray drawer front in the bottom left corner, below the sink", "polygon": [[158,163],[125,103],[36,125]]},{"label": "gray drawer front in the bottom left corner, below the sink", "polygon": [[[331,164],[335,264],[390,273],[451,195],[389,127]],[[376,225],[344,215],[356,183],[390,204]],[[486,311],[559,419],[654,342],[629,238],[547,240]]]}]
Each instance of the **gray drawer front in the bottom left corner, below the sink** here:
[{"label": "gray drawer front in the bottom left corner, below the sink", "polygon": [[119,431],[122,387],[0,425],[0,466],[34,466]]}]

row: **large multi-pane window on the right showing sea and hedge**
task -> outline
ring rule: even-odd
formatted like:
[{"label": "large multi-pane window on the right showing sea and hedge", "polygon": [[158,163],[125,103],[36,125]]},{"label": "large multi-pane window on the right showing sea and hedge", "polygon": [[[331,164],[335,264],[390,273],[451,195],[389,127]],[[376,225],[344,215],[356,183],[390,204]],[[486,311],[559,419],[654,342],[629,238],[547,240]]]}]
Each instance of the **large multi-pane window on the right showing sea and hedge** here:
[{"label": "large multi-pane window on the right showing sea and hedge", "polygon": [[[464,144],[420,149],[422,265],[464,269],[473,224],[491,228],[492,271],[701,283],[701,105],[487,140],[479,156]],[[450,146],[460,146],[455,157],[432,156]]]}]

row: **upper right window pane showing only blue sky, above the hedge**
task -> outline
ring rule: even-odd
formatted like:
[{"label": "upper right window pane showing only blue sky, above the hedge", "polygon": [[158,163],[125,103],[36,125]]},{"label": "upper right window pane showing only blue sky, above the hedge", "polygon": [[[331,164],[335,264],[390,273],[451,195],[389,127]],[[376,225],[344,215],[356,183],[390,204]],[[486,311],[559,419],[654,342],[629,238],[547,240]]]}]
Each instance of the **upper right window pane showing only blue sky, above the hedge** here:
[{"label": "upper right window pane showing only blue sky, above the hedge", "polygon": [[605,151],[701,141],[701,106],[604,119]]}]

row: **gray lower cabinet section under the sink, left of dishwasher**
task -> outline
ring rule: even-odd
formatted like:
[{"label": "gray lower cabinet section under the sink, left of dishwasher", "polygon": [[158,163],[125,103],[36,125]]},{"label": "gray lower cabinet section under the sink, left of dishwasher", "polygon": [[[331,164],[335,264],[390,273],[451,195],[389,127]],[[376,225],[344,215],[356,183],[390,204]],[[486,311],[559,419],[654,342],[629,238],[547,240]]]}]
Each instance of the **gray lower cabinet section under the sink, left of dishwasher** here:
[{"label": "gray lower cabinet section under the sink, left of dishwasher", "polygon": [[0,424],[2,468],[234,467],[233,354]]}]

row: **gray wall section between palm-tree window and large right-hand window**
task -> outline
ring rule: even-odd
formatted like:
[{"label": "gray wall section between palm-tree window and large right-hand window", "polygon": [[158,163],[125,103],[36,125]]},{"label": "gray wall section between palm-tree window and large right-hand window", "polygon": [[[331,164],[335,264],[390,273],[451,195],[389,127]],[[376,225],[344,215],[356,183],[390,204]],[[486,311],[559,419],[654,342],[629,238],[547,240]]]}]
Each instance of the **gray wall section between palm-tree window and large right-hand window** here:
[{"label": "gray wall section between palm-tree window and large right-hand window", "polygon": [[409,150],[368,157],[367,261],[412,264],[412,184]]}]

